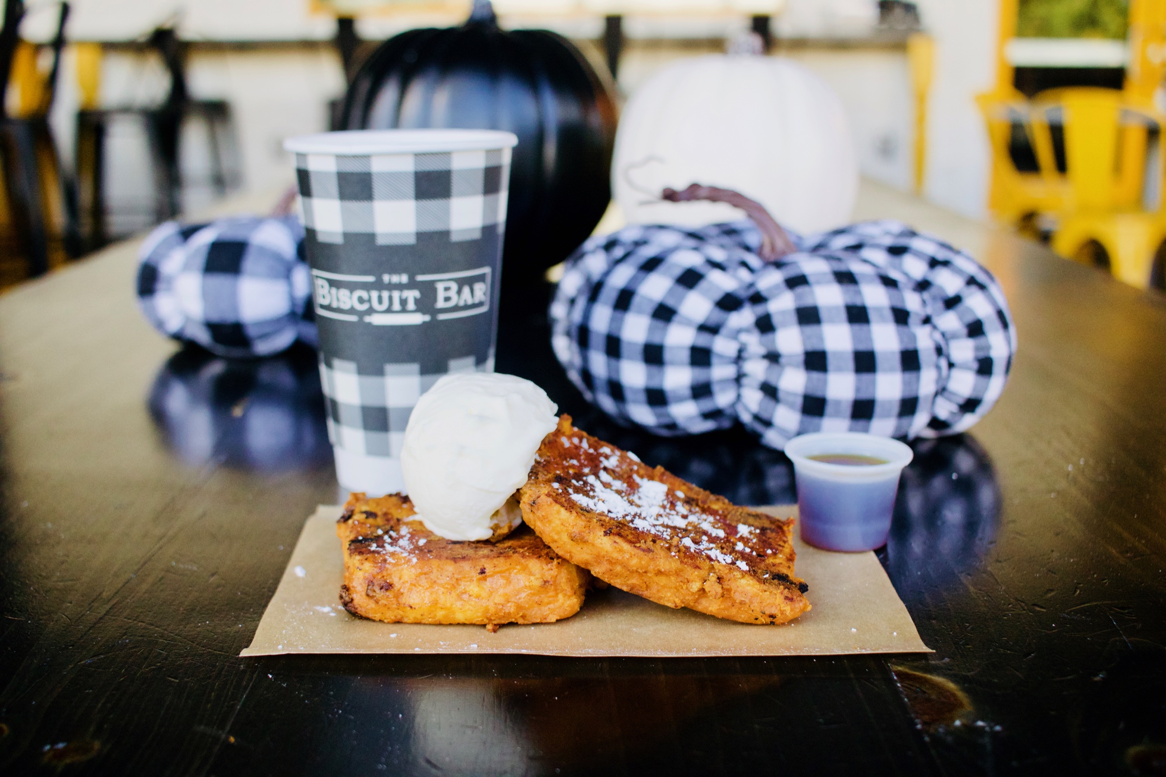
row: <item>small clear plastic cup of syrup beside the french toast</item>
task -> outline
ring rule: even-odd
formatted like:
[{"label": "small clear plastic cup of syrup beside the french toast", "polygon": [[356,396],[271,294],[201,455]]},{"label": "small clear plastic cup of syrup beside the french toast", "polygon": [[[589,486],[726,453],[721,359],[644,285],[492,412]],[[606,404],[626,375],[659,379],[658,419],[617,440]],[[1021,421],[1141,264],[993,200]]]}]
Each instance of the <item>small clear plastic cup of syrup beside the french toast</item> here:
[{"label": "small clear plastic cup of syrup beside the french toast", "polygon": [[[826,550],[881,548],[891,532],[899,474],[913,451],[862,432],[816,432],[786,443],[794,462],[802,539]],[[872,457],[886,464],[830,464],[810,457]]]}]

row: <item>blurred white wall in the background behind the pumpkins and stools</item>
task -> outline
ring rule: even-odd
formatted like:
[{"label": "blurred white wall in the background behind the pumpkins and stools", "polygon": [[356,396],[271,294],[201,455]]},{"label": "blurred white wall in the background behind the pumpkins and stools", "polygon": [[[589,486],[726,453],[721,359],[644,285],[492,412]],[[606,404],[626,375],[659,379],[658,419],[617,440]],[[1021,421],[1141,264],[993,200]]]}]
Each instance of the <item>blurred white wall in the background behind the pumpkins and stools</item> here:
[{"label": "blurred white wall in the background behind the pumpkins and stools", "polygon": [[[779,20],[779,29],[787,35],[823,31],[809,28],[813,27],[810,22],[817,24],[821,21],[810,13],[817,1],[789,0],[788,14]],[[831,6],[831,14],[841,17],[851,1],[845,0],[837,8]],[[330,19],[307,13],[307,0],[245,0],[241,3],[237,0],[198,0],[184,5],[180,29],[184,30],[182,34],[185,37],[194,40],[328,38],[335,31],[335,22]],[[974,98],[977,92],[989,89],[995,79],[997,5],[998,0],[920,0],[923,24],[936,40],[926,196],[972,218],[983,218],[986,212],[989,146]],[[178,7],[177,0],[78,0],[70,33],[75,38],[90,40],[135,37]],[[31,35],[38,29],[42,35],[34,37],[48,37],[51,31],[49,22],[54,16],[51,9],[33,14],[26,24],[26,34]],[[388,36],[396,31],[393,28],[407,21],[370,17],[361,24],[361,30],[370,37]],[[599,21],[589,21],[596,29],[588,31],[598,34]],[[856,24],[858,21],[856,16]],[[835,22],[837,27],[838,22]],[[637,41],[635,35],[663,31],[655,28],[639,30],[635,27],[638,23],[628,20],[627,31],[633,40],[630,40],[620,65],[620,85],[625,93],[634,90],[655,69],[677,57],[697,56],[718,48],[679,41]],[[693,21],[686,23],[690,26]],[[724,29],[718,27],[716,31],[729,34],[743,28],[744,23],[745,20],[739,19],[735,24],[722,24]],[[693,30],[688,33],[695,34]],[[899,189],[909,189],[914,125],[904,52],[876,48],[820,48],[792,49],[785,56],[822,77],[842,99],[855,133],[863,175]],[[68,157],[72,155],[76,93],[72,63],[66,57],[63,64],[64,83],[58,92],[54,123],[62,149],[68,149],[64,154],[68,163]],[[196,50],[191,56],[189,75],[195,96],[231,103],[241,150],[244,185],[250,189],[269,189],[289,179],[288,162],[279,150],[281,139],[324,128],[325,105],[344,89],[339,63],[326,43],[316,50],[304,47]],[[164,71],[149,55],[111,52],[104,76],[105,106],[156,103],[167,86]],[[126,164],[129,164],[128,160]]]}]

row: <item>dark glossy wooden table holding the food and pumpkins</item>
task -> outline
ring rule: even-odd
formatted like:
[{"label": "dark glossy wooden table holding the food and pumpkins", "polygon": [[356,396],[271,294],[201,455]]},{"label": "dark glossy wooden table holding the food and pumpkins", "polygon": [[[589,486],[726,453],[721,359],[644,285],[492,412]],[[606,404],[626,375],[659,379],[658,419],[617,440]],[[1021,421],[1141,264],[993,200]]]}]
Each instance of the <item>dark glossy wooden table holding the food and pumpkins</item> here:
[{"label": "dark glossy wooden table holding the food and pumpkins", "polygon": [[[134,245],[0,298],[0,772],[1164,774],[1166,303],[888,190],[998,275],[1020,352],[968,436],[916,445],[880,558],[932,656],[243,659],[336,500],[310,353],[173,355]],[[541,305],[498,368],[749,503],[787,461],[586,409]]]}]

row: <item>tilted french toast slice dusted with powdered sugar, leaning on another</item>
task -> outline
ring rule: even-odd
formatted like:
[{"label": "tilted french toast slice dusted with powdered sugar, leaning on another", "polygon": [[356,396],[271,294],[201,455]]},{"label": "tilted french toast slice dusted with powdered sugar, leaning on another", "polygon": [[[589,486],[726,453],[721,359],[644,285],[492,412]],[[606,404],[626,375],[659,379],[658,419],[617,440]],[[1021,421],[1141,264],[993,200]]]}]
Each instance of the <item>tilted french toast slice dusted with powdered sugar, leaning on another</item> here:
[{"label": "tilted french toast slice dusted with powdered sugar, leaning on another", "polygon": [[737,507],[648,467],[562,416],[520,489],[522,520],[563,558],[668,607],[743,623],[810,608],[792,520]]}]

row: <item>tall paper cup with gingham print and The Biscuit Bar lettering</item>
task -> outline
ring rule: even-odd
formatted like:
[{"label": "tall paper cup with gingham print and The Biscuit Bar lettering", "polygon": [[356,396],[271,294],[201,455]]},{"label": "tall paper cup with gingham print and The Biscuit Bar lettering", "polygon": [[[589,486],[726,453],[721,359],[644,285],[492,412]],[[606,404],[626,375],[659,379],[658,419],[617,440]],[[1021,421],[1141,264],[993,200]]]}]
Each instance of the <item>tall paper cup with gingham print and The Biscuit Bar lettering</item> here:
[{"label": "tall paper cup with gingham print and The Biscuit Bar lettering", "polygon": [[342,488],[405,490],[409,412],[438,377],[493,372],[511,149],[486,129],[333,132],[295,154]]}]

